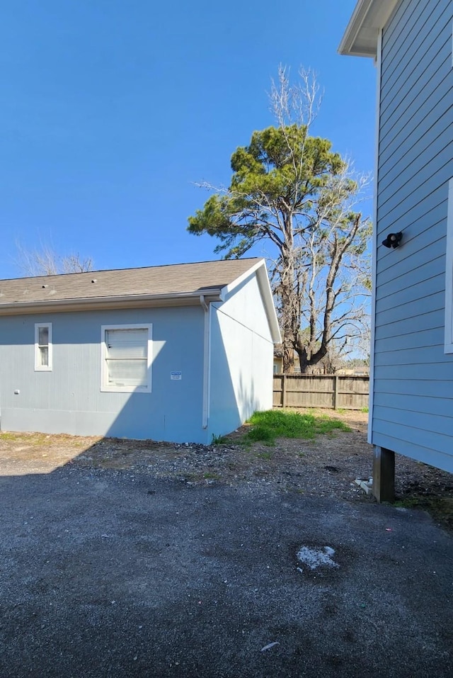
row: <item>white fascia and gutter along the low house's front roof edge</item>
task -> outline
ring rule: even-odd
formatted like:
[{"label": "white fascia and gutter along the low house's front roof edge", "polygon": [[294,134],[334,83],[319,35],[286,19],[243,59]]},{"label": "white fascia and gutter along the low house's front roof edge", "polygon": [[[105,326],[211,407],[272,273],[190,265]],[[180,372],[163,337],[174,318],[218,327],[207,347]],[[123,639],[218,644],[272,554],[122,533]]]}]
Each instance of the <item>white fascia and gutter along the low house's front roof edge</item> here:
[{"label": "white fascia and gutter along the low house's front roof edge", "polygon": [[41,312],[71,312],[79,310],[102,310],[108,308],[140,308],[163,306],[200,305],[200,295],[207,303],[221,300],[221,290],[197,290],[171,294],[131,294],[113,297],[89,297],[76,299],[55,299],[0,304],[0,316],[25,315]]}]

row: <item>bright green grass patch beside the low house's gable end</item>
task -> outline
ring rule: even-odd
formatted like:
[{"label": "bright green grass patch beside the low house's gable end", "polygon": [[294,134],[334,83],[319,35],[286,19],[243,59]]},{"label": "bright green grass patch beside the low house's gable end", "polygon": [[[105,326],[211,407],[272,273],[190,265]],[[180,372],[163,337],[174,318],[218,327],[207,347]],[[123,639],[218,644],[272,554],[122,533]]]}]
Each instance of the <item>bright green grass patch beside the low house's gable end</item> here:
[{"label": "bright green grass patch beside the low house's gable end", "polygon": [[276,438],[312,439],[319,434],[328,434],[335,429],[350,431],[350,427],[327,414],[316,417],[314,414],[300,414],[286,409],[268,409],[255,412],[248,424],[251,429],[244,436],[245,442],[263,441],[275,443]]}]

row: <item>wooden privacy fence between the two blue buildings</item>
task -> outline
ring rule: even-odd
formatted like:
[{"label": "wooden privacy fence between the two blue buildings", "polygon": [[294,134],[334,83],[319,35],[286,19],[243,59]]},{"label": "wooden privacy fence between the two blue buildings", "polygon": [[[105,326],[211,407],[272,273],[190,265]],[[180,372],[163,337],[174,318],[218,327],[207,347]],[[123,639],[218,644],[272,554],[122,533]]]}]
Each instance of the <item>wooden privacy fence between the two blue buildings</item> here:
[{"label": "wooden privacy fence between the two blue buildings", "polygon": [[369,376],[274,375],[274,407],[368,407]]}]

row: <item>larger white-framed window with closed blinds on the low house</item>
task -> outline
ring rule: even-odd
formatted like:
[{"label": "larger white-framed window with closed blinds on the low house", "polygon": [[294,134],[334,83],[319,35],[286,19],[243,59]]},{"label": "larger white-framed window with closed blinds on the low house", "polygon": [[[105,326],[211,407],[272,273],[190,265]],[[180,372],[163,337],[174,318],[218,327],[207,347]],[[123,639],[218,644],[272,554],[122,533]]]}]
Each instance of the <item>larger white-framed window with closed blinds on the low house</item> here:
[{"label": "larger white-framed window with closed blinds on the low house", "polygon": [[151,324],[103,325],[101,390],[151,391]]}]

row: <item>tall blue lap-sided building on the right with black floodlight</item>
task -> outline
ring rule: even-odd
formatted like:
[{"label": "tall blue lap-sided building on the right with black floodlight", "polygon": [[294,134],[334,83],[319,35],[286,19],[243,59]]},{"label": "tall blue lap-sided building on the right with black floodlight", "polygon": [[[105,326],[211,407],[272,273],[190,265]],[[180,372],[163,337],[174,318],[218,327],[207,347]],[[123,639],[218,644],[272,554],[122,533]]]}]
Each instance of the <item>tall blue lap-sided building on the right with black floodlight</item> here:
[{"label": "tall blue lap-sided building on the right with black floodlight", "polygon": [[359,0],[339,48],[377,64],[378,499],[391,498],[395,452],[453,471],[452,26],[452,0]]}]

